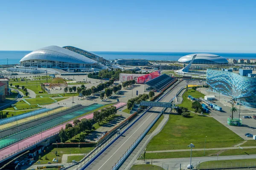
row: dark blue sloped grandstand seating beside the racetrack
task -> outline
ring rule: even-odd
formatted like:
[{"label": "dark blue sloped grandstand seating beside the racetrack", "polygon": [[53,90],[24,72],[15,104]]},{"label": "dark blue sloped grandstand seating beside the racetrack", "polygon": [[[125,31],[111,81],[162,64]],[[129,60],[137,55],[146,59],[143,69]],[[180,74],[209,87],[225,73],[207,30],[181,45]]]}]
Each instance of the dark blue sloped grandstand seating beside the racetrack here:
[{"label": "dark blue sloped grandstand seating beside the racetrack", "polygon": [[169,75],[163,74],[157,78],[152,79],[151,81],[146,82],[148,86],[151,86],[153,89],[160,91],[166,85],[170,84],[175,79]]}]

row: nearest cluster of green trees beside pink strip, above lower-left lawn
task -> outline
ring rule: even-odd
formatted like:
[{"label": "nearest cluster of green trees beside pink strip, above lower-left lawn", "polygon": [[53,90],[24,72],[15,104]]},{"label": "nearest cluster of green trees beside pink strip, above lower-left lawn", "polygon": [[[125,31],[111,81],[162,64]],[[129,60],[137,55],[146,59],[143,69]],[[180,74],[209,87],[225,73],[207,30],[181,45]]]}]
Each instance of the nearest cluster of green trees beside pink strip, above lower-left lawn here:
[{"label": "nearest cluster of green trees beside pink strip, above lower-left lawn", "polygon": [[66,124],[66,127],[65,129],[61,128],[61,130],[59,131],[59,137],[61,139],[61,142],[65,142],[67,141],[68,139],[71,139],[73,137],[76,138],[76,135],[81,133],[81,132],[84,132],[84,133],[81,133],[79,135],[79,139],[80,139],[80,142],[84,142],[84,138],[85,138],[85,132],[90,132],[90,130],[92,130],[93,128],[93,120],[92,119],[86,119],[86,118],[83,118],[81,120],[79,119],[75,119],[73,121],[73,124]]}]

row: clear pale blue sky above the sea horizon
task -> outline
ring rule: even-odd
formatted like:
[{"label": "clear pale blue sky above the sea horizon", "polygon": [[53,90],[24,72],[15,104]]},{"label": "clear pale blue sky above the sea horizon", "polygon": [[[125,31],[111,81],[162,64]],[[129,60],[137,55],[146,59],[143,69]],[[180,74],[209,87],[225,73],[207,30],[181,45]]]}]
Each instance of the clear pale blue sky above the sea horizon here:
[{"label": "clear pale blue sky above the sea horizon", "polygon": [[256,0],[5,0],[0,50],[256,52]]}]

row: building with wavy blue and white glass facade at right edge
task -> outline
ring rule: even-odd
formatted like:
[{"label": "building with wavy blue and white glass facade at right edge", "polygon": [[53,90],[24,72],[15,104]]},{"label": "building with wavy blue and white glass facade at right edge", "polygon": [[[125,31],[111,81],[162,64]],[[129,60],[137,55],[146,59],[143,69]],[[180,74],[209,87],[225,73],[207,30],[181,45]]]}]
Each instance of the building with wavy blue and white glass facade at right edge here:
[{"label": "building with wavy blue and white glass facade at right edge", "polygon": [[240,101],[246,107],[256,108],[256,78],[207,69],[207,84],[221,94]]}]

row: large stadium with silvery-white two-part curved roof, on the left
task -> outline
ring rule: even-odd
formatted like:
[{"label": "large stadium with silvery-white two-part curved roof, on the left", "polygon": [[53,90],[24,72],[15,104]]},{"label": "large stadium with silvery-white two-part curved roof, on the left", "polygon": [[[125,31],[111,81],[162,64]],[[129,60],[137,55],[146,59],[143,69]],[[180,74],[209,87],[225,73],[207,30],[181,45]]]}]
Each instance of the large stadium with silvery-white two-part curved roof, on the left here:
[{"label": "large stadium with silvery-white two-part curved roof, on the left", "polygon": [[47,46],[24,56],[20,60],[20,67],[55,68],[68,72],[82,72],[88,69],[101,70],[114,66],[99,55],[73,46]]}]

